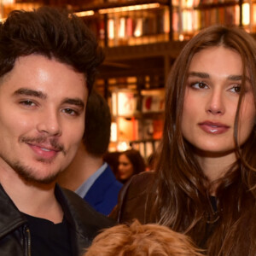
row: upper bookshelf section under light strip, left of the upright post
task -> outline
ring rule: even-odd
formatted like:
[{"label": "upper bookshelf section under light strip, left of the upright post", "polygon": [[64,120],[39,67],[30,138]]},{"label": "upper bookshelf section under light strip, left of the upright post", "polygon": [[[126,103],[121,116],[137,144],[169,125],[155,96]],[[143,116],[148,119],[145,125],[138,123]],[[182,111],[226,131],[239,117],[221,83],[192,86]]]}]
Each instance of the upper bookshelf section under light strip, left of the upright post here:
[{"label": "upper bookshelf section under light strip, left of the upright post", "polygon": [[[97,1],[83,4],[77,14],[93,12],[84,21],[95,32],[102,46],[151,44],[170,39],[170,0]],[[83,9],[83,11],[79,11]]]}]

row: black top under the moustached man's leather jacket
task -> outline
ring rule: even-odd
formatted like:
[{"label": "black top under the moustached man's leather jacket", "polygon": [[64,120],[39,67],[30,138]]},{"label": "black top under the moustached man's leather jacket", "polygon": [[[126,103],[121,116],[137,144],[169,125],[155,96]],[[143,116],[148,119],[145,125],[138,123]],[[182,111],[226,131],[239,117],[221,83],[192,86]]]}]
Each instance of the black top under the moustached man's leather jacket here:
[{"label": "black top under the moustached man's leather jacket", "polygon": [[32,256],[71,256],[71,241],[67,219],[54,224],[44,219],[25,214],[31,236]]}]

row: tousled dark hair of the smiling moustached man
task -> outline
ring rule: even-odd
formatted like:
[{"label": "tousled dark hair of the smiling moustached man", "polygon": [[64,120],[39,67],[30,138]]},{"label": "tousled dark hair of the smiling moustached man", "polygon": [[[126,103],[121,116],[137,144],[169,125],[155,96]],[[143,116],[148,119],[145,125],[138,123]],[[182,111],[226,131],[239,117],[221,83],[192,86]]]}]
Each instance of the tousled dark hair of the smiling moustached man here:
[{"label": "tousled dark hair of the smiling moustached man", "polygon": [[18,57],[32,54],[55,58],[84,73],[89,91],[103,60],[84,21],[67,10],[50,7],[12,11],[0,24],[0,77],[12,70]]}]

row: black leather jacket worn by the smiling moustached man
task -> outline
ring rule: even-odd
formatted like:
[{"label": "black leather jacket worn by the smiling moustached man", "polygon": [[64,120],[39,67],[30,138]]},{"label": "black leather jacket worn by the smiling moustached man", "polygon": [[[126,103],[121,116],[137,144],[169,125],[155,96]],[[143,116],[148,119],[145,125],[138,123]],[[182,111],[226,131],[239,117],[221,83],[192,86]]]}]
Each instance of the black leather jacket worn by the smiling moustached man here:
[{"label": "black leather jacket worn by the smiling moustached man", "polygon": [[[113,221],[92,209],[72,191],[55,188],[55,196],[67,218],[73,256],[89,247],[99,230],[113,226]],[[30,256],[30,230],[26,217],[0,185],[0,255]]]}]

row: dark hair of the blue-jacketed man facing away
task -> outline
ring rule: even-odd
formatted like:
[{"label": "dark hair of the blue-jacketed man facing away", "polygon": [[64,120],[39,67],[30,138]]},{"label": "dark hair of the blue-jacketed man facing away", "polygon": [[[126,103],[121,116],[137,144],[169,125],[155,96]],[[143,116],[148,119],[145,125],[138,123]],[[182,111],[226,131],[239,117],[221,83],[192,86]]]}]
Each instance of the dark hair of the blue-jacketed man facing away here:
[{"label": "dark hair of the blue-jacketed man facing away", "polygon": [[85,110],[83,143],[86,151],[94,156],[102,156],[108,149],[110,139],[111,114],[108,102],[92,90]]}]

